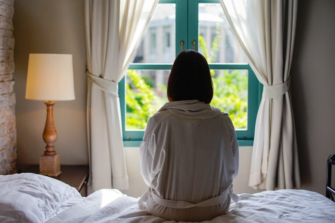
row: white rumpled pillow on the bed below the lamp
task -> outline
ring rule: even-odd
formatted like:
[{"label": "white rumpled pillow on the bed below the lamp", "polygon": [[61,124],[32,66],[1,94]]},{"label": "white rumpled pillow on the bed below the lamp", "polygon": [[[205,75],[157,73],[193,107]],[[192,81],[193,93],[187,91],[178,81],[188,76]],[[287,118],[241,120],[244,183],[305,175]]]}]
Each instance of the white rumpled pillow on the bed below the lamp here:
[{"label": "white rumpled pillow on the bed below the lamp", "polygon": [[81,195],[51,177],[34,173],[0,175],[0,222],[45,222],[62,212],[72,196]]}]

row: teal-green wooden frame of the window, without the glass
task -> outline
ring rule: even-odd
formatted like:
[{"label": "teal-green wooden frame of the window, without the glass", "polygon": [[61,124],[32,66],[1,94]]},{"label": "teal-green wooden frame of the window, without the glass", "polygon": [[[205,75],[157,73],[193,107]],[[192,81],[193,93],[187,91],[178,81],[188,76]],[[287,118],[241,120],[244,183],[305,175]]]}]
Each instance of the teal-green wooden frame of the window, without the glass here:
[{"label": "teal-green wooden frame of the window, without the glass", "polygon": [[[198,9],[199,3],[219,3],[219,0],[160,0],[159,3],[175,3],[176,5],[176,55],[181,51],[181,40],[184,49],[198,51]],[[185,19],[187,15],[187,19]],[[163,47],[163,46],[162,46]],[[130,64],[128,69],[142,70],[170,70],[172,64]],[[236,136],[240,146],[251,146],[254,139],[255,122],[261,101],[262,86],[257,80],[249,64],[211,63],[210,69],[243,69],[248,71],[248,107],[247,129],[236,129]],[[126,147],[138,147],[143,139],[144,130],[126,130],[126,88],[125,77],[119,82],[119,97],[121,106],[121,123],[123,142]]]}]

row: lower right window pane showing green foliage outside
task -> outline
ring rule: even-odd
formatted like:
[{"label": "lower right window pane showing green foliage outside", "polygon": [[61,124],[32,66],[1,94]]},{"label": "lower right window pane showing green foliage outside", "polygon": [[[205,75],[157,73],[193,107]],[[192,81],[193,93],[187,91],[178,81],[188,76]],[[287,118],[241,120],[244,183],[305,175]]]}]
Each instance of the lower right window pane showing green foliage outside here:
[{"label": "lower right window pane showing green foliage outside", "polygon": [[214,95],[210,105],[227,112],[236,129],[247,128],[248,70],[211,70]]}]

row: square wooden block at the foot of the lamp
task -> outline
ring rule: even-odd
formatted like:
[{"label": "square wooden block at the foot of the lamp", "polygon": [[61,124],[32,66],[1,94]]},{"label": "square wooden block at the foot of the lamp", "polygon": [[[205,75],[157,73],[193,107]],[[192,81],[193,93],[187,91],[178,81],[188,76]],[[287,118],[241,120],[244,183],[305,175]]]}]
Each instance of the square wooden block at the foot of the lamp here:
[{"label": "square wooden block at the foot of the lamp", "polygon": [[61,161],[58,153],[53,156],[43,154],[39,157],[39,174],[56,177],[61,173]]}]

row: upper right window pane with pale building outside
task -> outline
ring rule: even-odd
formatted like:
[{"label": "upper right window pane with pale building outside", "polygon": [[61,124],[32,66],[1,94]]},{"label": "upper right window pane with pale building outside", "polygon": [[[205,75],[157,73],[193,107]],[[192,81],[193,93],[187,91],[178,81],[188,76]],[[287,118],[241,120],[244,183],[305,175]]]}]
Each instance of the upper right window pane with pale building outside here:
[{"label": "upper right window pane with pale building outside", "polygon": [[199,4],[199,52],[208,63],[247,63],[218,3]]}]

